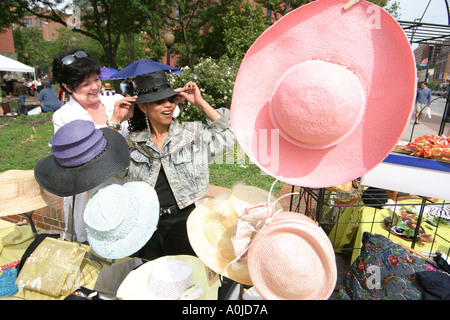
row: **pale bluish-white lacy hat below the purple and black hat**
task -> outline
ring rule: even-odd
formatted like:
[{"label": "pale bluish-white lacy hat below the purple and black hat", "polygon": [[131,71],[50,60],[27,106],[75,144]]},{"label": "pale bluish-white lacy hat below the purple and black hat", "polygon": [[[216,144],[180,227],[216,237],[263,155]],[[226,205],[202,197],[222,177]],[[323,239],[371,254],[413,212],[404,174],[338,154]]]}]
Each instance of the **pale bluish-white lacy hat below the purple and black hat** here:
[{"label": "pale bluish-white lacy hat below the purple and black hat", "polygon": [[104,186],[94,193],[84,211],[89,245],[109,259],[121,259],[141,249],[155,232],[158,220],[158,196],[145,182]]}]

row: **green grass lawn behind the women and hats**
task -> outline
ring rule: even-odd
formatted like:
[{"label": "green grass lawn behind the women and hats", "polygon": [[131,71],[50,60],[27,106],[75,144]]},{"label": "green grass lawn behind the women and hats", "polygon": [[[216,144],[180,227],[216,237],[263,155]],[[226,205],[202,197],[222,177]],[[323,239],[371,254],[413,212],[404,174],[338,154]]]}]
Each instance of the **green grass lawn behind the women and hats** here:
[{"label": "green grass lawn behind the women and hats", "polygon": [[[53,113],[42,113],[0,118],[0,172],[12,169],[31,170],[39,159],[51,154],[48,143],[53,137],[52,115]],[[236,149],[230,152],[236,153]],[[224,159],[225,157],[227,155]],[[209,165],[210,184],[231,188],[242,182],[269,191],[275,181],[273,177],[263,174],[255,164],[249,163],[246,155],[242,161],[229,162],[214,161]],[[274,195],[282,185],[283,183],[277,182]]]}]

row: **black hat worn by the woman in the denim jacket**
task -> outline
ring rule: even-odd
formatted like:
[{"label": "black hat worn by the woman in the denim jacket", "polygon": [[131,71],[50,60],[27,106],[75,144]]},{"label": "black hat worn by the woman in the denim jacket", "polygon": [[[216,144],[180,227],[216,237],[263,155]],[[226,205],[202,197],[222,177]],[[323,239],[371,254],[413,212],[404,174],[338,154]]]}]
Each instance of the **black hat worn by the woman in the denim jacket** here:
[{"label": "black hat worn by the woman in the denim jacket", "polygon": [[170,87],[164,71],[136,76],[136,91],[136,103],[154,102],[178,94]]}]

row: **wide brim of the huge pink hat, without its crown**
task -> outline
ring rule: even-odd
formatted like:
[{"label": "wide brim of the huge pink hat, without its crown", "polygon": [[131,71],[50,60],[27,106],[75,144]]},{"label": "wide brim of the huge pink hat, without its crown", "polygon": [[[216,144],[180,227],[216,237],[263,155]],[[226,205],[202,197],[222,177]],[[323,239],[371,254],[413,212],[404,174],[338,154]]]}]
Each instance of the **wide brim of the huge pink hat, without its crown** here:
[{"label": "wide brim of the huge pink hat, without its crown", "polygon": [[[236,138],[262,171],[289,184],[328,187],[364,175],[395,147],[411,117],[416,69],[403,30],[382,8],[361,1],[344,10],[347,2],[318,0],[284,16],[248,50],[236,78]],[[283,72],[317,59],[342,62],[359,77],[362,119],[333,146],[305,148],[279,136],[272,150],[272,89]]]}]

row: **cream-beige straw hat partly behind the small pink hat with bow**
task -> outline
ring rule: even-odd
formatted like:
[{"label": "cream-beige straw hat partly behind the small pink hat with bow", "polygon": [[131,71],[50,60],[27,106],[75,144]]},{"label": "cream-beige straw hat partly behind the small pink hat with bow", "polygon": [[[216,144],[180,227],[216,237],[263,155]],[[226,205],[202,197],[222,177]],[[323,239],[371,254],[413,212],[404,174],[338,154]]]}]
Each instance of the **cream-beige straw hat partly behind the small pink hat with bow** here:
[{"label": "cream-beige straw hat partly behind the small pink hat with bow", "polygon": [[[199,205],[189,216],[189,241],[200,260],[218,274],[251,285],[247,256],[236,259],[232,243],[238,218],[245,209],[269,201],[269,192],[253,186],[237,185],[231,193]],[[271,197],[271,201],[275,201]],[[277,209],[281,209],[278,204]],[[234,261],[234,262],[233,262]]]}]

